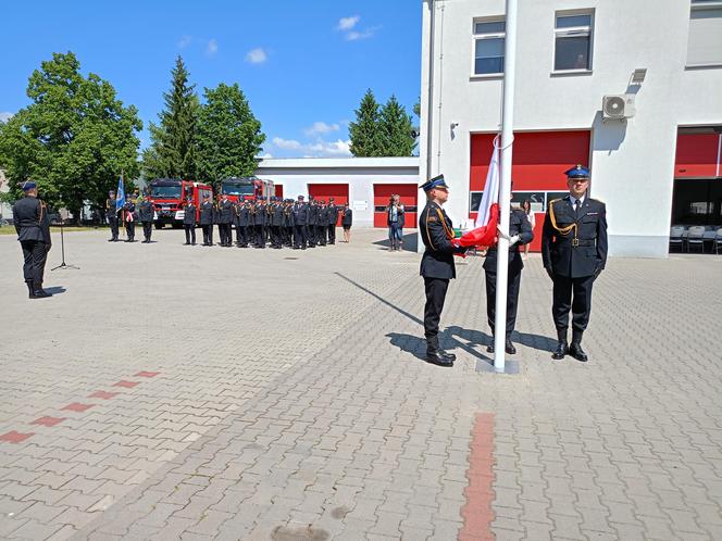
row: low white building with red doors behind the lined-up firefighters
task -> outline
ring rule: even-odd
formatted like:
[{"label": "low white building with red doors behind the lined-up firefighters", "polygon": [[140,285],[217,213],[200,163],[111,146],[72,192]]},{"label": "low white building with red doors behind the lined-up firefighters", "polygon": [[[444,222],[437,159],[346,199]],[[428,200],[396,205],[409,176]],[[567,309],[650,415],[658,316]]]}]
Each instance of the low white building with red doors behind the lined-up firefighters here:
[{"label": "low white building with red doors behind the lined-up firefighters", "polygon": [[256,171],[273,180],[276,196],[349,203],[353,225],[386,227],[384,207],[391,193],[407,207],[407,227],[415,227],[419,158],[264,159]]}]

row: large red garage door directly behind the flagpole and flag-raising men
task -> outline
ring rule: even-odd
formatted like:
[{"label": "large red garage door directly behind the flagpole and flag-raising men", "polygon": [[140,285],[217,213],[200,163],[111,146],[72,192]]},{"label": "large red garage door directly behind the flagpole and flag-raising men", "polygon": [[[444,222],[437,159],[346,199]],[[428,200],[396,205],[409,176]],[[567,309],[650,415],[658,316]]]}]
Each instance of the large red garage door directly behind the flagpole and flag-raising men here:
[{"label": "large red garage door directly behind the flagpole and flag-raising men", "polygon": [[[471,137],[470,167],[470,209],[469,217],[476,218],[481,193],[486,183],[489,168],[494,137],[496,134],[473,134]],[[542,247],[542,228],[544,211],[548,200],[568,192],[564,171],[574,164],[589,163],[589,130],[574,131],[534,131],[514,134],[512,201],[521,203],[530,199],[537,211],[534,240],[531,249],[538,251]]]}]

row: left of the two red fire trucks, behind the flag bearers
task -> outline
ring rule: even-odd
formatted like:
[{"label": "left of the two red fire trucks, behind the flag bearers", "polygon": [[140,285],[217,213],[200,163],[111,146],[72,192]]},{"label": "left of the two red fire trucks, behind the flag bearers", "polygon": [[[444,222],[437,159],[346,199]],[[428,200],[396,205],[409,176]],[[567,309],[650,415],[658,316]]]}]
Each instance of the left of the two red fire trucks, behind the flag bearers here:
[{"label": "left of the two red fire trucks, behind the flag bearers", "polygon": [[200,203],[206,194],[213,197],[213,188],[207,184],[173,178],[151,180],[150,199],[155,209],[153,216],[155,228],[161,229],[166,224],[173,227],[183,226],[186,198],[188,197],[191,197],[196,204],[196,222],[198,222],[200,219]]}]

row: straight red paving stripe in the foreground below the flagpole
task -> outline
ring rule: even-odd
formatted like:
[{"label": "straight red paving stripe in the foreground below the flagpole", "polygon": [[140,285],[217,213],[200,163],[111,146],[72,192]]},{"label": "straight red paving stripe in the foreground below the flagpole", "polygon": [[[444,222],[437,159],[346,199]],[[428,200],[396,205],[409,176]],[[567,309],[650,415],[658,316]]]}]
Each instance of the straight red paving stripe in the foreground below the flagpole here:
[{"label": "straight red paving stripe in the foreground below the flagpole", "polygon": [[471,456],[466,470],[466,504],[461,509],[464,525],[459,541],[493,540],[494,521],[494,414],[477,413],[472,428]]}]

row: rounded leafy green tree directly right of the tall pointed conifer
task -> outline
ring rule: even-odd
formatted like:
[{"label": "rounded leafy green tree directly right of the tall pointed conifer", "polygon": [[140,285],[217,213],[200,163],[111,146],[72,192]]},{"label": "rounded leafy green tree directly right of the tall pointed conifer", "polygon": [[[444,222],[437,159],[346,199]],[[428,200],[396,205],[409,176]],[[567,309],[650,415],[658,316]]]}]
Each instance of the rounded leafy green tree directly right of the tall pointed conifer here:
[{"label": "rounded leafy green tree directly right of the tall pointed conifer", "polygon": [[265,135],[238,84],[207,88],[198,118],[198,177],[217,187],[231,176],[250,176]]}]

